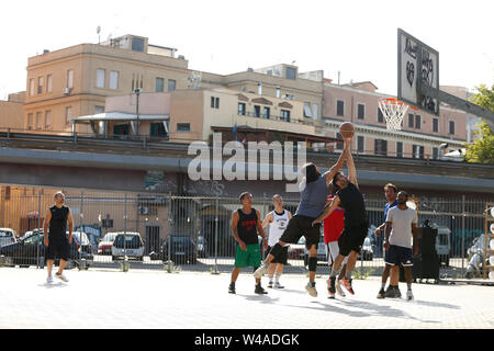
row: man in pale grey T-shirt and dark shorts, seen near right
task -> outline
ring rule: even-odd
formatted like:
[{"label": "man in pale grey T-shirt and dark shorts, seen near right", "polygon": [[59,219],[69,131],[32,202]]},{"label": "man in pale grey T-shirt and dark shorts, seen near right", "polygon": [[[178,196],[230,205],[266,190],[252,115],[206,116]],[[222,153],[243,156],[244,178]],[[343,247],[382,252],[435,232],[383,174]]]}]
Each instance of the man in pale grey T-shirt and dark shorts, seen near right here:
[{"label": "man in pale grey T-shirt and dark shorts, seen near right", "polygon": [[414,298],[412,293],[412,238],[414,254],[418,253],[417,246],[417,223],[418,216],[415,210],[406,205],[408,194],[404,191],[397,194],[397,206],[390,208],[386,217],[386,229],[384,236],[384,248],[386,256],[384,262],[391,265],[390,287],[386,297],[397,297],[400,281],[400,264],[405,271],[407,292],[406,299]]}]

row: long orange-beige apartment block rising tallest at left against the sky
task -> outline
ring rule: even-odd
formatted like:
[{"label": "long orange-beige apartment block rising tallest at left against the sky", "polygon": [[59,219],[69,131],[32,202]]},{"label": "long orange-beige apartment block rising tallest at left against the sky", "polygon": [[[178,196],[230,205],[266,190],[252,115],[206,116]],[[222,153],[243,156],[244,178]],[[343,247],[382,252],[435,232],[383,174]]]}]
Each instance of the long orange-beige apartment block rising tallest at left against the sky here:
[{"label": "long orange-beige apartment block rising tallest at left against the sky", "polygon": [[[105,98],[192,88],[227,88],[245,93],[303,101],[319,121],[322,82],[299,78],[297,68],[278,65],[277,75],[254,69],[222,76],[197,72],[176,48],[151,45],[148,38],[125,35],[101,44],[79,44],[29,58],[24,126],[70,132],[77,116],[105,111]],[[278,73],[280,71],[280,73]],[[198,79],[199,77],[199,79]]]}]

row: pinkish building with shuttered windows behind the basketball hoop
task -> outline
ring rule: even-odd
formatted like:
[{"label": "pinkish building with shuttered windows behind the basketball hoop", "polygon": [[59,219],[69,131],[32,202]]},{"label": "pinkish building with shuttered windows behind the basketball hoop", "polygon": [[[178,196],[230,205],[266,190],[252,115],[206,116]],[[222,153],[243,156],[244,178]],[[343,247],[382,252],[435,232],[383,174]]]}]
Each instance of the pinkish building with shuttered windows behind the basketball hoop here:
[{"label": "pinkish building with shuttered windows behind the basketball hoop", "polygon": [[[462,148],[467,140],[467,114],[441,104],[440,115],[408,109],[402,131],[388,131],[378,100],[393,98],[377,92],[372,82],[337,86],[324,83],[324,133],[341,139],[338,127],[350,121],[356,126],[353,148],[359,154],[390,157],[439,158]],[[447,145],[447,147],[446,147]],[[343,144],[337,144],[343,148]]]}]

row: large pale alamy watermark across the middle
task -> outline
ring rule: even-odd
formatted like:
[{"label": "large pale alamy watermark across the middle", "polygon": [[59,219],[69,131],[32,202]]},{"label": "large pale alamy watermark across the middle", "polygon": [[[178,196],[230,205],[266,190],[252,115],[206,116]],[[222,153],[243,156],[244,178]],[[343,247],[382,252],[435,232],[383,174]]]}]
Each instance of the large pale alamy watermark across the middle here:
[{"label": "large pale alamy watermark across the middle", "polygon": [[[306,144],[297,141],[295,146],[292,141],[284,141],[283,145],[280,141],[227,141],[223,145],[222,134],[213,133],[213,148],[205,141],[193,141],[189,145],[188,155],[197,156],[188,169],[192,181],[295,181],[288,183],[285,191],[299,192],[299,184],[304,176],[300,170],[306,163]],[[225,156],[229,158],[223,161]]]}]

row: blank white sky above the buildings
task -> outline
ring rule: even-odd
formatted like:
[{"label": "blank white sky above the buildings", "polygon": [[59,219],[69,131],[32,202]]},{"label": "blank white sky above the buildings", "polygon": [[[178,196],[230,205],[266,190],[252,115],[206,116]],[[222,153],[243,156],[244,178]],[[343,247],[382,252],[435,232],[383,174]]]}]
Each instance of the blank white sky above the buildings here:
[{"label": "blank white sky above the buildings", "polygon": [[16,0],[0,8],[0,100],[26,89],[27,58],[125,34],[220,75],[277,64],[372,81],[396,95],[397,29],[439,52],[439,83],[494,84],[491,0]]}]

